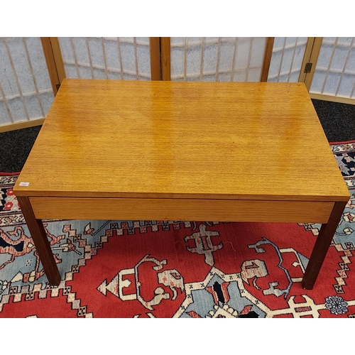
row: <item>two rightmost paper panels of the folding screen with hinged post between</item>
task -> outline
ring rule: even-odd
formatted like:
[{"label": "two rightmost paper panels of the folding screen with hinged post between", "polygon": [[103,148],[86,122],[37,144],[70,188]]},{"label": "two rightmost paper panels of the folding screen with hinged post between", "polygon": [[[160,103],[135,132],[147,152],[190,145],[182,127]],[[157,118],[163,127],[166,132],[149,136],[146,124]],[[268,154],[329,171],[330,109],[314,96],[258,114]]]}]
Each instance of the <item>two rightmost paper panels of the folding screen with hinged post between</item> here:
[{"label": "two rightmost paper panels of the folding screen with hinged post between", "polygon": [[354,37],[275,38],[269,82],[305,82],[312,99],[355,104]]}]

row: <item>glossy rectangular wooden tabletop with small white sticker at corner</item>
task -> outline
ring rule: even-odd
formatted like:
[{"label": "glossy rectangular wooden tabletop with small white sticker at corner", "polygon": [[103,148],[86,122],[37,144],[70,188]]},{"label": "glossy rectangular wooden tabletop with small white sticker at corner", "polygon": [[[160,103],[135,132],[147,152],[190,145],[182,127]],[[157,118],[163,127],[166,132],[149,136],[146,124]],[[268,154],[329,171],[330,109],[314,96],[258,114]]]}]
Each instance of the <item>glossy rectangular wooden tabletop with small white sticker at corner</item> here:
[{"label": "glossy rectangular wooden tabletop with small white sticker at corner", "polygon": [[349,199],[305,85],[264,82],[64,80],[15,191]]}]

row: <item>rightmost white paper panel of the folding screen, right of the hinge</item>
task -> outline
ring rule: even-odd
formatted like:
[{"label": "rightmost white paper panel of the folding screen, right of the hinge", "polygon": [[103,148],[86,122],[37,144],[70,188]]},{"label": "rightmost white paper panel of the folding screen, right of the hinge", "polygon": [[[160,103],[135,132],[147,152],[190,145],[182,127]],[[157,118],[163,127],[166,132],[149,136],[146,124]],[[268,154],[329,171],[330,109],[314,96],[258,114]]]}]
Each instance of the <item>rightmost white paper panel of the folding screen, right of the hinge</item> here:
[{"label": "rightmost white paper panel of the folding screen, right of the hinge", "polygon": [[310,92],[355,98],[354,37],[324,37]]}]

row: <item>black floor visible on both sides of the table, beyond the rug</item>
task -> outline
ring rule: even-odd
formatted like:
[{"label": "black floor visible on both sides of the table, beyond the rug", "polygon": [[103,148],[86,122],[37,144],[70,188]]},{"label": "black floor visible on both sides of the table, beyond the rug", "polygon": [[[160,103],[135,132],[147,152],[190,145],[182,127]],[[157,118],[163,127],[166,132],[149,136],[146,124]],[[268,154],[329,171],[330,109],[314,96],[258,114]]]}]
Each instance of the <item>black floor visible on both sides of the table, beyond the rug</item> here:
[{"label": "black floor visible on both sides of the table, beyond the rug", "polygon": [[[355,105],[312,100],[329,142],[355,140]],[[0,133],[0,173],[21,171],[40,126]]]}]

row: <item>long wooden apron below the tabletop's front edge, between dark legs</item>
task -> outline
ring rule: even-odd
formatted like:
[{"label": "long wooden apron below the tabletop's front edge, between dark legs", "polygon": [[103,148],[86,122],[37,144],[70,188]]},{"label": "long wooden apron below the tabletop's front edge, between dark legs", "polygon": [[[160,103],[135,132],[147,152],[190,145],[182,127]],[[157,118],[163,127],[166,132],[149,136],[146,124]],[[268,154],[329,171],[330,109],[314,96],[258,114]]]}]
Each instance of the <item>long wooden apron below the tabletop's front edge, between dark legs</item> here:
[{"label": "long wooden apron below the tabletop's front edge, between dark legs", "polygon": [[30,197],[36,219],[327,223],[334,202]]}]

